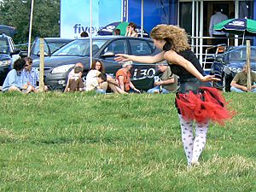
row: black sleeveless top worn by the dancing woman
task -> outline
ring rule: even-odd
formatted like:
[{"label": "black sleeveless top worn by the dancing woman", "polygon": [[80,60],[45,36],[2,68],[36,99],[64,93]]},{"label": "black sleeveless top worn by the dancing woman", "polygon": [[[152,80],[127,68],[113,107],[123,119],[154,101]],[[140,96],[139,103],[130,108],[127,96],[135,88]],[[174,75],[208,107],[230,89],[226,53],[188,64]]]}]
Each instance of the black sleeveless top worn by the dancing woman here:
[{"label": "black sleeveless top worn by the dancing woman", "polygon": [[[183,56],[183,58],[190,61],[195,66],[195,68],[199,71],[199,73],[201,73],[203,76],[205,76],[205,73],[200,65],[200,62],[198,61],[198,59],[196,58],[195,54],[193,53],[193,51],[191,49],[183,50],[177,54]],[[179,76],[180,82],[185,82],[186,79],[195,78],[195,76],[193,74],[189,73],[182,66],[179,66],[176,64],[174,65],[172,63],[169,63],[169,66],[171,67],[172,73]]]}]

